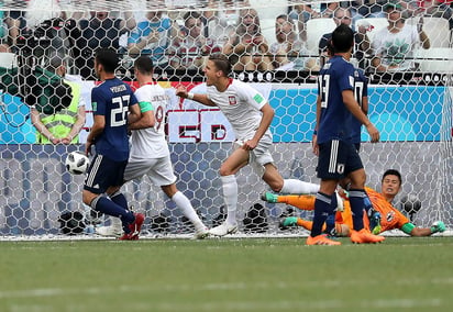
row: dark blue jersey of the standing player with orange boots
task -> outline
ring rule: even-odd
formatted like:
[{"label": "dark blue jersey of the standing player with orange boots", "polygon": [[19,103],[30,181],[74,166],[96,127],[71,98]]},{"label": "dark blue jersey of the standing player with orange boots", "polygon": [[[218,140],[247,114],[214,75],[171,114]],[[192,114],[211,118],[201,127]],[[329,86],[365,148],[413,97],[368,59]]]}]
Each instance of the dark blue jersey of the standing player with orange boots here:
[{"label": "dark blue jersey of the standing player with orange boots", "polygon": [[343,103],[342,91],[354,88],[354,66],[341,56],[332,57],[318,77],[321,115],[318,143],[332,140],[351,142],[353,115]]}]

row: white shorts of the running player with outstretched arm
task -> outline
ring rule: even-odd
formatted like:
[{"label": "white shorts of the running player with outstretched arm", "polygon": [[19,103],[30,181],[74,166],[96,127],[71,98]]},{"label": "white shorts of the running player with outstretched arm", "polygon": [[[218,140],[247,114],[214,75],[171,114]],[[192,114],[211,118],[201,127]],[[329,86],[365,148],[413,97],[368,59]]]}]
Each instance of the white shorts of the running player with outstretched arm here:
[{"label": "white shorts of the running player with outstretched arm", "polygon": [[[233,143],[233,149],[240,148],[246,140],[236,140]],[[248,164],[252,166],[256,175],[263,177],[264,165],[274,164],[274,158],[270,155],[269,147],[273,144],[273,137],[269,132],[266,132],[259,140],[258,145],[248,153]]]}]

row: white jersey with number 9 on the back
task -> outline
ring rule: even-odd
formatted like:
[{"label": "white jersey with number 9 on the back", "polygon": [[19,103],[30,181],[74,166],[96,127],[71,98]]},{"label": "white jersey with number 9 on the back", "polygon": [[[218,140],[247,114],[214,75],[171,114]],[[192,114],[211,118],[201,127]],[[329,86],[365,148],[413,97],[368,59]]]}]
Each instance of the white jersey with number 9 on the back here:
[{"label": "white jersey with number 9 on the back", "polygon": [[131,158],[159,158],[169,155],[165,138],[165,111],[169,103],[164,88],[153,82],[135,91],[139,103],[147,102],[153,107],[155,124],[153,127],[132,131]]}]

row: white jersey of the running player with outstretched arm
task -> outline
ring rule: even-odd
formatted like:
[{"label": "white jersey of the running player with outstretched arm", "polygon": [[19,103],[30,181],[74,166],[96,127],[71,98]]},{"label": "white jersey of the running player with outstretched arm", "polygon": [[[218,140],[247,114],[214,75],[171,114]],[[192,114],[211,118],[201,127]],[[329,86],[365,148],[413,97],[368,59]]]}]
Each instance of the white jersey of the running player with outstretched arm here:
[{"label": "white jersey of the running player with outstretched arm", "polygon": [[[234,130],[236,140],[251,140],[262,120],[261,109],[267,100],[250,85],[230,79],[226,90],[220,92],[214,86],[207,88],[208,98],[222,111]],[[270,131],[267,130],[270,134]]]}]

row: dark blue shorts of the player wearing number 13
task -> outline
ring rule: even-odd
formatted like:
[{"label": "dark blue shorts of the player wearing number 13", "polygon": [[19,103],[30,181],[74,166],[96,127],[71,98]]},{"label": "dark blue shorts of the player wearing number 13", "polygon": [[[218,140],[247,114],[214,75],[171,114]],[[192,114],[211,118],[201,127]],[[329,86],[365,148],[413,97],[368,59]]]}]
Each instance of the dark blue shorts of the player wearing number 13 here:
[{"label": "dark blue shorts of the player wearing number 13", "polygon": [[318,178],[341,180],[362,168],[362,159],[353,143],[332,140],[319,144]]}]

